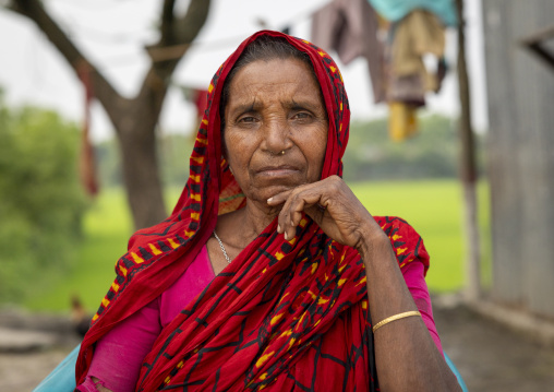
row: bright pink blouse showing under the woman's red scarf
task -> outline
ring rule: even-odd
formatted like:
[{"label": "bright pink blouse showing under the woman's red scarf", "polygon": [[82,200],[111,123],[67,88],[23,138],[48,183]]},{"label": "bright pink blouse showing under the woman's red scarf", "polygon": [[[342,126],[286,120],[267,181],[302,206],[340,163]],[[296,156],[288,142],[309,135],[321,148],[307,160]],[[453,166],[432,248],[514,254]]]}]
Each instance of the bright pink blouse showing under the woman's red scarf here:
[{"label": "bright pink blouse showing under the woman's red scarf", "polygon": [[[423,263],[416,261],[404,268],[402,274],[423,322],[442,353],[423,271]],[[134,391],[143,359],[152,349],[161,329],[169,324],[214,277],[207,248],[203,247],[189,269],[171,287],[96,343],[86,380],[76,390],[96,392],[97,389],[91,379],[95,377],[100,380],[100,385],[111,391]]]}]

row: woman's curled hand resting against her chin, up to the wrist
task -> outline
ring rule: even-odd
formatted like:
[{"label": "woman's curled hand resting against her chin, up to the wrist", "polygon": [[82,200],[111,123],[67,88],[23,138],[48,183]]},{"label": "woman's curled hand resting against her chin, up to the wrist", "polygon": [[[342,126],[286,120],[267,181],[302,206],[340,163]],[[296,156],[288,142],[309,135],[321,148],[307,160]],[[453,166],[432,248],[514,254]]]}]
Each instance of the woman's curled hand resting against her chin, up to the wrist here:
[{"label": "woman's curled hand resting against her chin, up to the wrist", "polygon": [[277,231],[290,239],[296,235],[302,212],[305,212],[334,240],[361,249],[364,241],[383,235],[377,223],[338,176],[306,183],[267,200],[267,204],[284,204]]}]

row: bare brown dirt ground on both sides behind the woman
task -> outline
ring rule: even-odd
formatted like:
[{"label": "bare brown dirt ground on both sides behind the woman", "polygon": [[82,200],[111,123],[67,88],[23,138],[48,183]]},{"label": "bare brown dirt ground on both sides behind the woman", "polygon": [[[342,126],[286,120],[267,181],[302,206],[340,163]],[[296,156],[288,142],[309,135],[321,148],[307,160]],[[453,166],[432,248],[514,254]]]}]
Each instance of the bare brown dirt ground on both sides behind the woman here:
[{"label": "bare brown dirt ground on both sides behind the woman", "polygon": [[[542,347],[462,305],[435,305],[435,321],[469,391],[554,391],[554,347]],[[0,391],[32,391],[79,342],[69,320],[59,317],[0,312],[0,328],[56,337],[44,346],[0,345]],[[5,332],[3,337],[10,340]]]}]

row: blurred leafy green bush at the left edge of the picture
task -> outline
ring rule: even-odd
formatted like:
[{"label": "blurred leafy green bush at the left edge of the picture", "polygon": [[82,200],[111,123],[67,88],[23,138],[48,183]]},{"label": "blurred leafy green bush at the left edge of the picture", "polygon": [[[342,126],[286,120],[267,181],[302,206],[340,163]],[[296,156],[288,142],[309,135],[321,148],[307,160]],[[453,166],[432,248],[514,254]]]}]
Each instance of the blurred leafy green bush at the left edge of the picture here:
[{"label": "blurred leafy green bush at the left edge of the picture", "polygon": [[52,111],[9,109],[0,96],[0,302],[67,270],[85,210],[79,132]]}]

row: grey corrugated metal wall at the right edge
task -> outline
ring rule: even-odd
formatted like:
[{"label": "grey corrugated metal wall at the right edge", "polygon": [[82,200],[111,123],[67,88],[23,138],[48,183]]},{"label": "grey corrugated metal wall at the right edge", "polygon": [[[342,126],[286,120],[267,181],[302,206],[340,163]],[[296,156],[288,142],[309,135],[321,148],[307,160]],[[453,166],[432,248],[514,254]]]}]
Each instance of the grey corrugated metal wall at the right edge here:
[{"label": "grey corrugated metal wall at the right edge", "polygon": [[496,301],[554,317],[554,69],[518,44],[554,25],[554,0],[482,3],[492,295]]}]

